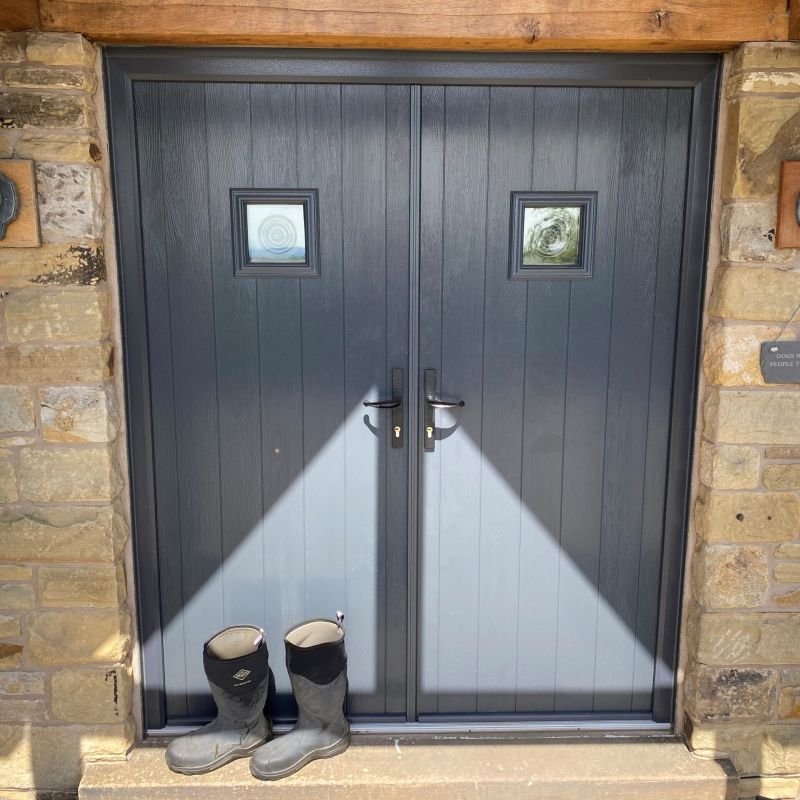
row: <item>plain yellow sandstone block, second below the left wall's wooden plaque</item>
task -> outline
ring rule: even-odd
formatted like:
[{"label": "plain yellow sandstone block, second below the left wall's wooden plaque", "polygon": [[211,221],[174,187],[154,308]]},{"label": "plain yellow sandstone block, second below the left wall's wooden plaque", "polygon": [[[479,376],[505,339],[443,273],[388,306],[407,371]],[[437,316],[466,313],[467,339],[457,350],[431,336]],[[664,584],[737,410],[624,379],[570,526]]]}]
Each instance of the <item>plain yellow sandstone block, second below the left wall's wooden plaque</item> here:
[{"label": "plain yellow sandstone block, second below the left wall's wooden plaque", "polygon": [[89,287],[21,289],[4,305],[11,342],[103,339],[108,333],[108,295]]}]

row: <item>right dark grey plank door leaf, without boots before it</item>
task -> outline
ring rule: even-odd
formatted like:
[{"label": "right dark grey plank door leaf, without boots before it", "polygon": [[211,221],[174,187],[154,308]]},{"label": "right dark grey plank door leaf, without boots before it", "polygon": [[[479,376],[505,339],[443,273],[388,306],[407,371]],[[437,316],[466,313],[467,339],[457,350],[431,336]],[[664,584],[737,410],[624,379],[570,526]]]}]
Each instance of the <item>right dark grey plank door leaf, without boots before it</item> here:
[{"label": "right dark grey plank door leaf, without boots before it", "polygon": [[[690,101],[422,90],[423,718],[649,715]],[[527,190],[598,193],[590,279],[508,279]]]}]

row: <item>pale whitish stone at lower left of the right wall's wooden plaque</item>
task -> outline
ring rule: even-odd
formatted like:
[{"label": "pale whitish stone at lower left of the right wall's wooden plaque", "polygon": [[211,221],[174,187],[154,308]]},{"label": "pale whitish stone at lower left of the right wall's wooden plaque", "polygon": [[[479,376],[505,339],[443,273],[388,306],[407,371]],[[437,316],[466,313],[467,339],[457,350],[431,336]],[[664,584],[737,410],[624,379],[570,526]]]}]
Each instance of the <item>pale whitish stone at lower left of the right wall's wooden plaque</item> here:
[{"label": "pale whitish stone at lower left of the right wall's wooden plaque", "polygon": [[724,261],[786,264],[791,250],[775,247],[775,203],[728,203],[722,208],[721,244]]}]

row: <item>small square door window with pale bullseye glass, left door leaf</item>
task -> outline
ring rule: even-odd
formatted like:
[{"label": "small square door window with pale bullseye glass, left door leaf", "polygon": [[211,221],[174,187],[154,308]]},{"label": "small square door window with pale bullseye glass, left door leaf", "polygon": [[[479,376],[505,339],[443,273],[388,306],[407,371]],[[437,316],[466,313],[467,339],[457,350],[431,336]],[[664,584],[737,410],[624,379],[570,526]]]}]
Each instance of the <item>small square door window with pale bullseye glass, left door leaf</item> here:
[{"label": "small square door window with pale bullseye glass, left door leaf", "polygon": [[234,275],[318,278],[316,189],[231,189]]}]

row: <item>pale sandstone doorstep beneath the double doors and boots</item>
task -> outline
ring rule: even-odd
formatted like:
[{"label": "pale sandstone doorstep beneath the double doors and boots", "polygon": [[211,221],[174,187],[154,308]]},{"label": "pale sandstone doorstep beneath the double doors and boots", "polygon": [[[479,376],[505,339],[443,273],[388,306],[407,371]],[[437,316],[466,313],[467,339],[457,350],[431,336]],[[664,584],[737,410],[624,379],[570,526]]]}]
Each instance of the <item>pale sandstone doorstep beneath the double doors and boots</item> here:
[{"label": "pale sandstone doorstep beneath the double doors and boots", "polygon": [[80,800],[735,800],[730,764],[675,741],[356,738],[350,749],[263,783],[240,759],[184,776],[163,747],[84,770]]}]

